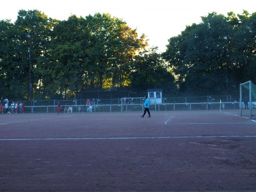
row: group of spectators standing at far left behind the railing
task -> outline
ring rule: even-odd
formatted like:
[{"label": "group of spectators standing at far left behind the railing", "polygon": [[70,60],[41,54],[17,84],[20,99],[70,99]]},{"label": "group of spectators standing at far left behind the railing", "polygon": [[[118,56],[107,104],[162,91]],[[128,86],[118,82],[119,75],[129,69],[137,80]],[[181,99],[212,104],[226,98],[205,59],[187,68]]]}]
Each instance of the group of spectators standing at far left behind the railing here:
[{"label": "group of spectators standing at far left behind the railing", "polygon": [[1,97],[1,100],[0,100],[0,114],[3,113],[3,108],[5,108],[5,113],[9,113],[9,114],[12,114],[12,113],[24,113],[25,112],[25,105],[23,102],[12,102],[11,103],[11,111],[9,111],[9,100],[6,98],[6,99],[3,99],[3,96]]}]

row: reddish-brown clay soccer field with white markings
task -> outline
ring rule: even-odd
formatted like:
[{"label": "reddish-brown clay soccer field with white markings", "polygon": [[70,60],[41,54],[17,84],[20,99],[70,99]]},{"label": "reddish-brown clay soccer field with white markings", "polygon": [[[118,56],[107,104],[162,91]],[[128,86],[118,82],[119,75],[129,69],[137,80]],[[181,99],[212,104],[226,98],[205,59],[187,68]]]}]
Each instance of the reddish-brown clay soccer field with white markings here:
[{"label": "reddish-brown clay soccer field with white markings", "polygon": [[255,191],[238,111],[0,116],[0,191]]}]

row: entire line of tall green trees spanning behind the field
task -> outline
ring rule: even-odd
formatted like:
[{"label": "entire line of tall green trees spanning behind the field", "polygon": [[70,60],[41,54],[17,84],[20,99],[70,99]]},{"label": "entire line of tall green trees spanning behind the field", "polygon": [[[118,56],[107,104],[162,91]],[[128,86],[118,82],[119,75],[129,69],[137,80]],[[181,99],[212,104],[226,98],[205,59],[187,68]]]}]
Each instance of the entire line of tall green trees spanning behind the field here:
[{"label": "entire line of tall green trees spanning behind the field", "polygon": [[1,95],[29,99],[28,50],[33,99],[148,88],[166,96],[237,95],[239,83],[256,82],[256,13],[210,13],[158,54],[145,35],[109,14],[56,20],[20,10],[15,23],[0,20]]}]

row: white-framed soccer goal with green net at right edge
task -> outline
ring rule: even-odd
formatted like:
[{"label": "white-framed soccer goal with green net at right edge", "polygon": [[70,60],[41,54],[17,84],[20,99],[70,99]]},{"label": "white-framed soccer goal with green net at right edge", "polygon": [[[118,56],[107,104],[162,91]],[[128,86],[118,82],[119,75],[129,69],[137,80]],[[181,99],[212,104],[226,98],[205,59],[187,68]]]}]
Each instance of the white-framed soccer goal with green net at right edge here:
[{"label": "white-framed soccer goal with green net at right edge", "polygon": [[240,84],[240,116],[256,118],[256,85],[252,81]]}]

